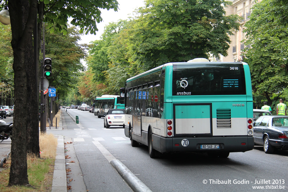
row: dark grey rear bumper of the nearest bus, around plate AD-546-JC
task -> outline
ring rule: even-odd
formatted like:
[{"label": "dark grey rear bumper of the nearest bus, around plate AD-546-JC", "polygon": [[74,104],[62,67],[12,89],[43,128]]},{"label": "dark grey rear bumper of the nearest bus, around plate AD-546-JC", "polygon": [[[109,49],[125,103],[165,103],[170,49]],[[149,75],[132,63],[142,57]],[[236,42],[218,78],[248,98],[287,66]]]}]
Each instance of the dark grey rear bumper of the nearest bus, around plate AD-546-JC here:
[{"label": "dark grey rear bumper of the nearest bus, around plate AD-546-JC", "polygon": [[[187,146],[181,144],[187,139]],[[219,149],[201,149],[200,145],[219,145]],[[153,135],[153,148],[164,152],[245,152],[254,147],[253,136],[213,136],[213,137],[174,137],[164,138]]]}]

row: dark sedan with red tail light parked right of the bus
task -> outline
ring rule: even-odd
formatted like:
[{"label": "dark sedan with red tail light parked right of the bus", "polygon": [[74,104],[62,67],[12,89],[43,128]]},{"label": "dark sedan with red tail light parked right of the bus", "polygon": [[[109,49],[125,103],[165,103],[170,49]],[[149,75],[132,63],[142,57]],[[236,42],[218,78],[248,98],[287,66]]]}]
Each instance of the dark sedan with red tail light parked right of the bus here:
[{"label": "dark sedan with red tail light parked right of the bus", "polygon": [[288,150],[288,116],[264,115],[254,123],[254,143],[263,145],[265,153]]}]

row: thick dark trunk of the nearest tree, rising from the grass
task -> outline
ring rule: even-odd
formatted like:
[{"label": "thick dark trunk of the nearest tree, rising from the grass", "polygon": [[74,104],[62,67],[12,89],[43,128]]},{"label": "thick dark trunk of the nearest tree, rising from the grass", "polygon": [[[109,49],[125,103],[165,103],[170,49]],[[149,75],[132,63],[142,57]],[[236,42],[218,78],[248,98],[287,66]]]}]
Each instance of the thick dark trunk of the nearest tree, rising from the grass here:
[{"label": "thick dark trunk of the nearest tree, rising from the grass", "polygon": [[[31,3],[31,5],[29,4]],[[11,20],[13,70],[14,70],[14,126],[11,142],[11,167],[9,186],[29,184],[27,175],[27,107],[31,83],[27,67],[33,59],[32,30],[37,11],[36,0],[9,0],[8,8]],[[32,60],[33,61],[33,60]],[[33,62],[32,62],[33,63]],[[34,73],[35,74],[35,73]],[[35,76],[33,76],[35,77]]]}]

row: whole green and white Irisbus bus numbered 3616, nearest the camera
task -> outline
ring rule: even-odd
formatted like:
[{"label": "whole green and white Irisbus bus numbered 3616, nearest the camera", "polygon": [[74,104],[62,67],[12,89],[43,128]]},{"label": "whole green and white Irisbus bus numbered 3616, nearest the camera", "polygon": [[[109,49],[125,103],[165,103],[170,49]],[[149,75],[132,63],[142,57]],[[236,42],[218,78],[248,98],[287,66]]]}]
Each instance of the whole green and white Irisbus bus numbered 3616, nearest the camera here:
[{"label": "whole green and white Irisbus bus numbered 3616, nearest the camera", "polygon": [[125,87],[125,135],[133,147],[228,157],[254,147],[250,70],[243,62],[196,58],[131,77]]}]

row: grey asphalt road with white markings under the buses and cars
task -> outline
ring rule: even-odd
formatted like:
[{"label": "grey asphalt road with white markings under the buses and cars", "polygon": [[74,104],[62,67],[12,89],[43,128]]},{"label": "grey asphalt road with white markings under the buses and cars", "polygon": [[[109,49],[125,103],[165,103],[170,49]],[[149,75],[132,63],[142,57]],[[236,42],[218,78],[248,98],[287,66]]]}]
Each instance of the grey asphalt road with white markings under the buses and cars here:
[{"label": "grey asphalt road with white markings under the buses and cars", "polygon": [[[63,131],[71,137],[89,191],[127,191],[119,175],[111,169],[95,143],[119,159],[152,191],[286,191],[288,151],[265,154],[256,146],[245,153],[230,153],[228,158],[211,158],[207,154],[167,154],[151,159],[148,147],[131,147],[120,127],[103,127],[104,118],[77,109],[67,109],[79,116],[79,130]],[[57,132],[59,134],[59,132]],[[115,173],[114,173],[115,172]],[[115,178],[113,178],[115,177]],[[116,183],[119,182],[119,183]],[[279,189],[282,188],[282,189]],[[283,189],[284,188],[284,189]],[[130,189],[131,190],[131,189]]]}]

